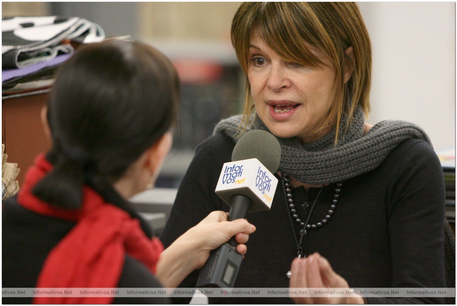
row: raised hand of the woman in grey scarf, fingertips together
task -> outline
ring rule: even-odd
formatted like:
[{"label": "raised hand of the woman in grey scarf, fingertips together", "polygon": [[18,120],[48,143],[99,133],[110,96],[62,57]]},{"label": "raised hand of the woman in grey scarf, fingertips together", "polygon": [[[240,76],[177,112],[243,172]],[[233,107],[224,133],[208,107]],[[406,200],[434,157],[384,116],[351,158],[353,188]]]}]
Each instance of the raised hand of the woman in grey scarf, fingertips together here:
[{"label": "raised hand of the woman in grey scarf, fingertips together", "polygon": [[[327,259],[313,253],[303,259],[294,259],[291,267],[290,288],[349,288],[347,281],[332,269]],[[319,296],[293,297],[296,304],[364,304],[361,295],[354,297]]]}]

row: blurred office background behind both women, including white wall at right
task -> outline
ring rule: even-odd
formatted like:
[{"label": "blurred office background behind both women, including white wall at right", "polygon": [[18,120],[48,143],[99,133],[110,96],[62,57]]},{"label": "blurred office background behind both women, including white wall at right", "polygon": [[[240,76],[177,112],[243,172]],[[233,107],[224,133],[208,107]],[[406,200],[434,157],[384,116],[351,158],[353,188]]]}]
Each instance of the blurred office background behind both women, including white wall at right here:
[{"label": "blurred office background behind both women, including white wall at right", "polygon": [[[220,119],[242,111],[244,76],[230,43],[238,6],[239,2],[2,2],[2,16],[78,16],[98,23],[106,37],[130,35],[168,55],[183,84],[181,124],[158,186],[176,188],[197,145]],[[436,150],[455,147],[455,2],[359,6],[373,46],[368,122],[412,121],[427,132]]]}]

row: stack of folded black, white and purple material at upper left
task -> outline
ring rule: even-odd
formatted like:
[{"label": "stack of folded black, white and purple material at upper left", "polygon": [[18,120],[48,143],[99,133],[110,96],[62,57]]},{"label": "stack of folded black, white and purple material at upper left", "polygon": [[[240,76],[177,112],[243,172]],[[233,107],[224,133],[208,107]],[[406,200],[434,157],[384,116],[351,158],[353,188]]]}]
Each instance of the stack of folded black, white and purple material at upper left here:
[{"label": "stack of folded black, white and purple material at upper left", "polygon": [[54,72],[81,44],[100,42],[100,26],[79,17],[3,17],[2,97],[47,92]]}]

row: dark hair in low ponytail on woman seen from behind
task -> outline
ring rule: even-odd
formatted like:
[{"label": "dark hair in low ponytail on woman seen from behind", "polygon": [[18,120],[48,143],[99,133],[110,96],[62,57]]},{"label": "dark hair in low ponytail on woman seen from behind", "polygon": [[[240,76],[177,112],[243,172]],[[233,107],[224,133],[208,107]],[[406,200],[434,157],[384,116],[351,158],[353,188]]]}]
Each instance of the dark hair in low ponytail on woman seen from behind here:
[{"label": "dark hair in low ponytail on woman seen from behind", "polygon": [[153,47],[118,40],[81,47],[53,85],[48,122],[56,160],[34,194],[79,208],[83,184],[112,185],[172,127],[178,99],[176,71]]}]

